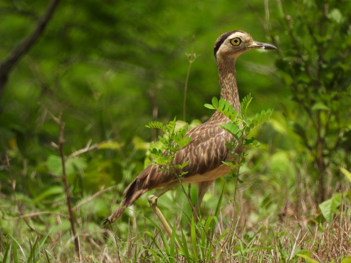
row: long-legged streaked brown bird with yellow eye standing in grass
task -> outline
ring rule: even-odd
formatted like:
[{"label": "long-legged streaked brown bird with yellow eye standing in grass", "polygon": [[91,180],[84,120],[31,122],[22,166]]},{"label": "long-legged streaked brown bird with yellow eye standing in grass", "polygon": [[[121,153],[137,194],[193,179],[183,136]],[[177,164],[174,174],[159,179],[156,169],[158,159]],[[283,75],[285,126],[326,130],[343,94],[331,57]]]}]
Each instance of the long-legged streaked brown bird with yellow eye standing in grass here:
[{"label": "long-legged streaked brown bird with yellow eye standing in grass", "polygon": [[[235,62],[238,56],[250,49],[277,49],[268,43],[254,41],[250,34],[243,31],[230,31],[219,36],[214,44],[214,56],[217,61],[220,97],[229,101],[233,109],[240,112],[240,100],[235,75]],[[195,183],[198,185],[198,200],[195,213],[198,213],[203,197],[216,178],[226,175],[231,168],[222,161],[230,158],[230,150],[226,143],[233,142],[234,137],[220,128],[220,125],[230,120],[216,111],[208,121],[189,129],[186,136],[190,136],[190,143],[181,148],[173,159],[173,164],[188,164],[181,169],[186,172],[181,177],[181,183]],[[240,153],[241,147],[237,145]],[[157,207],[157,198],[168,190],[179,185],[179,179],[171,171],[160,169],[154,163],[146,167],[125,189],[124,198],[119,207],[104,221],[104,224],[114,222],[141,195],[152,189],[161,188],[148,197],[148,201],[159,217],[168,235],[172,229],[168,225],[161,211]]]}]

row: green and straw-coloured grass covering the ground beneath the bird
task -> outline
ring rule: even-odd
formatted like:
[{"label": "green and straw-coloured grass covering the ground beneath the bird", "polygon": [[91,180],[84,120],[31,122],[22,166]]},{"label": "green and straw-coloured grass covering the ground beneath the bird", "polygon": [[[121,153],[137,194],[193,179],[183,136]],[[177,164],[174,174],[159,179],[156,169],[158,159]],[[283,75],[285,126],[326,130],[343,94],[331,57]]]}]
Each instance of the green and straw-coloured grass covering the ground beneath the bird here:
[{"label": "green and straw-coloured grass covering the ground beneath the bird", "polygon": [[[81,261],[349,262],[350,259],[345,259],[351,256],[349,192],[344,191],[346,195],[337,213],[327,223],[314,202],[310,202],[310,190],[300,193],[300,199],[294,194],[274,192],[267,200],[265,191],[275,182],[262,183],[260,187],[253,185],[254,192],[248,193],[248,177],[239,186],[233,206],[230,199],[234,183],[223,182],[223,178],[219,179],[206,194],[201,222],[187,216],[185,197],[179,189],[160,198],[159,206],[175,230],[171,239],[159,228],[157,217],[146,205],[134,205],[132,208],[138,213],[129,210],[121,220],[105,229],[102,218],[94,215],[99,209],[92,209],[92,205],[98,206],[100,201],[108,202],[114,197],[112,192],[97,196],[90,208],[85,204],[75,213]],[[16,201],[16,208],[13,197],[1,197],[0,262],[79,262],[67,218],[34,214],[23,200]],[[146,204],[146,196],[138,203]],[[58,214],[66,214],[62,200],[56,205]],[[9,214],[18,214],[19,208],[26,217],[9,217]],[[83,214],[82,210],[88,208],[92,213]],[[233,221],[232,214],[236,215]],[[181,244],[180,249],[175,249],[175,238]]]}]

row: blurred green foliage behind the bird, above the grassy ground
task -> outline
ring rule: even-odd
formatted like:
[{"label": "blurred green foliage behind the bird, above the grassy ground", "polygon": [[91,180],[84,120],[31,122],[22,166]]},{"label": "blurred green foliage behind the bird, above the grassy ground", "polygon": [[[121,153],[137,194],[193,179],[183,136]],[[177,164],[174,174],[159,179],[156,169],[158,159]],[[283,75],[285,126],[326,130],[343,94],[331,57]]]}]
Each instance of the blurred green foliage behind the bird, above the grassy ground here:
[{"label": "blurred green foliage behind the bird, above the grassy ground", "polygon": [[[204,122],[213,114],[203,106],[220,94],[213,45],[232,30],[278,47],[247,52],[236,64],[240,97],[253,96],[250,114],[274,108],[272,120],[254,134],[262,146],[249,151],[240,197],[248,205],[241,209],[254,222],[261,218],[254,215],[272,213],[277,221],[287,206],[298,217],[315,216],[320,202],[344,190],[340,167],[350,166],[350,3],[62,1],[0,98],[0,210],[2,218],[15,218],[1,219],[2,231],[22,225],[22,214],[67,214],[59,151],[51,144],[58,144],[59,128],[41,105],[56,117],[62,113],[66,156],[90,140],[113,140],[66,164],[74,205],[118,184],[77,212],[98,229],[144,168],[155,136],[145,125],[183,119],[193,45],[186,121]],[[1,61],[33,31],[46,5],[0,0]],[[228,202],[232,189],[226,185]],[[310,210],[302,209],[307,197]],[[206,206],[216,198],[213,191],[206,195]],[[137,205],[140,213],[151,213],[146,197]],[[56,220],[47,215],[27,223],[44,231]],[[122,236],[127,222],[124,215]]]}]

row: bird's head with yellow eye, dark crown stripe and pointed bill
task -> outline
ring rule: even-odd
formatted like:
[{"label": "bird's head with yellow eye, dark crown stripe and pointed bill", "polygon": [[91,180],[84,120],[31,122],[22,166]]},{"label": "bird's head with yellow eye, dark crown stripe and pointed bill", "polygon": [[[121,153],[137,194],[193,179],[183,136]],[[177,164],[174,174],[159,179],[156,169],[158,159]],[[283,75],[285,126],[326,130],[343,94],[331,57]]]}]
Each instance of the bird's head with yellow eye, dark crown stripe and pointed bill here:
[{"label": "bird's head with yellow eye, dark crown stripe and pointed bill", "polygon": [[230,31],[222,34],[214,43],[214,56],[217,61],[225,58],[235,60],[240,54],[254,48],[277,49],[273,45],[254,41],[246,32]]}]

